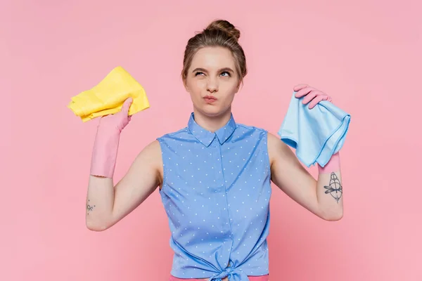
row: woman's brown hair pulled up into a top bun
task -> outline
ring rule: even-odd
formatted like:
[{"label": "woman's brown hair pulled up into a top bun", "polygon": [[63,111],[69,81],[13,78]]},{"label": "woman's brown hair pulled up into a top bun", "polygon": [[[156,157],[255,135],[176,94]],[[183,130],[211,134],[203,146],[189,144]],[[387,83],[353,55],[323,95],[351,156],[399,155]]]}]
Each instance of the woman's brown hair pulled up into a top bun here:
[{"label": "woman's brown hair pulled up into a top bun", "polygon": [[188,40],[184,51],[183,69],[181,70],[182,79],[186,79],[193,56],[200,48],[223,47],[231,51],[236,62],[238,79],[242,82],[248,70],[246,68],[245,53],[241,45],[238,44],[239,37],[241,37],[241,32],[227,20],[215,20],[211,22],[205,30]]}]

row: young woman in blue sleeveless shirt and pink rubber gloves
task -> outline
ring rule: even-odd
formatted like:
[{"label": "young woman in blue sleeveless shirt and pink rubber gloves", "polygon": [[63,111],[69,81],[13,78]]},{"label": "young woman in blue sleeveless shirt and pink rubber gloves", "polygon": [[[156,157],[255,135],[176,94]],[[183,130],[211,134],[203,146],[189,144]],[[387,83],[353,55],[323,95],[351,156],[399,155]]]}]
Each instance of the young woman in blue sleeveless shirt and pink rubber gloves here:
[{"label": "young woman in blue sleeveless shirt and pink rubber gloves", "polygon": [[[110,228],[159,187],[172,232],[170,280],[269,280],[271,181],[324,220],[343,216],[343,197],[333,200],[324,188],[332,174],[341,178],[338,154],[319,166],[316,181],[278,137],[235,121],[231,103],[247,73],[239,37],[234,25],[217,20],[189,39],[181,72],[193,103],[187,126],[147,145],[116,185],[117,147],[132,100],[98,125],[87,227]],[[331,100],[307,85],[293,90],[310,108]]]}]

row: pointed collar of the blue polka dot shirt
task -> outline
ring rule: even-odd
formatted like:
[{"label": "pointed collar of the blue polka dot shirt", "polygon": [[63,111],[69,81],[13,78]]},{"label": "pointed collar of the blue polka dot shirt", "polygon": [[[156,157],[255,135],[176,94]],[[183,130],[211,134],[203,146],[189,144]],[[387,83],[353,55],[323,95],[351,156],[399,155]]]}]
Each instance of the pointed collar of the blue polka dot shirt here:
[{"label": "pointed collar of the blue polka dot shirt", "polygon": [[224,125],[222,128],[215,131],[215,133],[212,133],[211,131],[203,129],[203,127],[199,126],[198,123],[195,122],[192,112],[188,122],[188,129],[191,131],[192,135],[195,136],[195,138],[205,146],[209,146],[214,140],[215,136],[217,136],[219,143],[223,144],[227,141],[227,139],[229,139],[231,134],[236,129],[236,122],[234,121],[233,114],[231,114],[229,122],[227,122],[226,125]]}]

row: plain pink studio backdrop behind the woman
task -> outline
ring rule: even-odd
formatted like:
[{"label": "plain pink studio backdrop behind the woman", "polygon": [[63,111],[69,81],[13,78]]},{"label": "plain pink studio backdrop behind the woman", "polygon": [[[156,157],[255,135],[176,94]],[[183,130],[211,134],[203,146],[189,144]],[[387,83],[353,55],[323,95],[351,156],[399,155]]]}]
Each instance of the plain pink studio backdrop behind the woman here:
[{"label": "plain pink studio backdrop behind the woman", "polygon": [[238,122],[276,133],[299,83],[352,115],[344,218],[322,221],[274,189],[271,280],[422,280],[420,1],[67,2],[0,4],[0,280],[167,280],[157,191],[113,228],[85,227],[98,120],[66,105],[117,65],[143,84],[151,108],[124,130],[119,180],[144,145],[186,126],[184,47],[216,18],[240,28],[248,58]]}]

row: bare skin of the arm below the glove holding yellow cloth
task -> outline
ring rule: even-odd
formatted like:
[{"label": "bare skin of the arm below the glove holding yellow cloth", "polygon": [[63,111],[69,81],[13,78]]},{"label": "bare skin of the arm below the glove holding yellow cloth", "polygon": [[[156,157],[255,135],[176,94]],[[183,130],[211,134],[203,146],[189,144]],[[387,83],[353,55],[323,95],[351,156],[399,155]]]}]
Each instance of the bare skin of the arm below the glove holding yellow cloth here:
[{"label": "bare skin of the arm below the glove holding yellow cloth", "polygon": [[162,183],[160,143],[144,148],[127,174],[113,186],[113,178],[89,176],[87,192],[87,228],[110,228],[136,209]]}]

